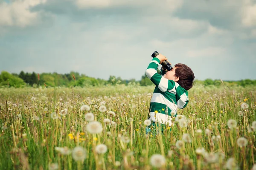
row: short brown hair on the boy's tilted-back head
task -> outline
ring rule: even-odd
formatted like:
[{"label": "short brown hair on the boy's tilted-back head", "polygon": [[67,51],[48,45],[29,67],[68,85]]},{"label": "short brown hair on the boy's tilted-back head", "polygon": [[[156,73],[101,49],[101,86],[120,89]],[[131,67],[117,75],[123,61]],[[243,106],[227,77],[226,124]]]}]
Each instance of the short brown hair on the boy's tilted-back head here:
[{"label": "short brown hair on the boy's tilted-back head", "polygon": [[175,76],[179,77],[177,83],[184,88],[185,90],[189,90],[194,85],[194,73],[185,64],[178,63],[175,65]]}]

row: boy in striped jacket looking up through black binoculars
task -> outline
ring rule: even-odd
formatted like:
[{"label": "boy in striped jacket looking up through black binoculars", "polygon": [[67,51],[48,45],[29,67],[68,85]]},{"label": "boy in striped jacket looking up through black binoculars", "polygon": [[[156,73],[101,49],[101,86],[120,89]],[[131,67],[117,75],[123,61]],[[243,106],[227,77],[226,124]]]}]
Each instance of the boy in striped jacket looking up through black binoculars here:
[{"label": "boy in striped jacket looking up through black binoculars", "polygon": [[170,71],[157,73],[158,65],[167,60],[162,54],[154,57],[146,70],[147,77],[156,85],[150,103],[150,120],[171,126],[177,108],[183,109],[189,102],[188,91],[193,86],[194,73],[185,64],[176,64]]}]

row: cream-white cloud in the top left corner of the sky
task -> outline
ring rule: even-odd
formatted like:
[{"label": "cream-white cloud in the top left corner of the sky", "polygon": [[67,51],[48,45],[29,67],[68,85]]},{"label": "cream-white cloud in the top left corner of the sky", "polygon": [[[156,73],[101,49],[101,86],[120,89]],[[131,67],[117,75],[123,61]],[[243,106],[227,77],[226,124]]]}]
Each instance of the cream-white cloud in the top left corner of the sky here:
[{"label": "cream-white cloud in the top left corner of the sky", "polygon": [[0,26],[26,27],[32,25],[38,17],[38,12],[30,8],[46,0],[16,0],[12,3],[0,3]]}]

